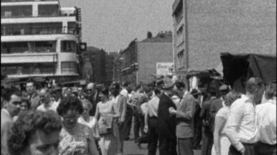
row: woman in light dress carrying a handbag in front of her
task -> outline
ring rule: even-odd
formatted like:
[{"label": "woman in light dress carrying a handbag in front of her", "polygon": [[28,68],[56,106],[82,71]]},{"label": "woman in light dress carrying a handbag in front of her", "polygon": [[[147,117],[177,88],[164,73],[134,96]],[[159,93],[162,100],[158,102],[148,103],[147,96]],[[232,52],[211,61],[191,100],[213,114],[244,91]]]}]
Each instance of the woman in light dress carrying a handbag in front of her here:
[{"label": "woman in light dress carrying a handbag in front of her", "polygon": [[[102,155],[114,155],[118,152],[119,131],[116,119],[118,118],[114,102],[109,100],[109,90],[105,89],[99,93],[101,101],[96,105],[96,118],[99,118],[98,125],[100,127],[100,149]],[[107,131],[103,131],[103,122],[108,127]]]}]

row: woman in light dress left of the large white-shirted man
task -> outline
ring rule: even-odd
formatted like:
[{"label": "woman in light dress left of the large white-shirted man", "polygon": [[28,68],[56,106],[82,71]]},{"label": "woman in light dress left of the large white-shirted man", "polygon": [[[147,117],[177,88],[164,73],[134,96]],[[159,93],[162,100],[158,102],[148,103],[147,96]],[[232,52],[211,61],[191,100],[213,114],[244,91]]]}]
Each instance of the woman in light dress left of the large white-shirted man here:
[{"label": "woman in light dress left of the large white-shirted man", "polygon": [[238,98],[240,98],[239,93],[235,93],[234,91],[229,92],[224,98],[224,106],[215,116],[215,131],[213,133],[214,145],[212,155],[228,155],[231,143],[224,134],[225,123],[229,116],[231,104]]}]

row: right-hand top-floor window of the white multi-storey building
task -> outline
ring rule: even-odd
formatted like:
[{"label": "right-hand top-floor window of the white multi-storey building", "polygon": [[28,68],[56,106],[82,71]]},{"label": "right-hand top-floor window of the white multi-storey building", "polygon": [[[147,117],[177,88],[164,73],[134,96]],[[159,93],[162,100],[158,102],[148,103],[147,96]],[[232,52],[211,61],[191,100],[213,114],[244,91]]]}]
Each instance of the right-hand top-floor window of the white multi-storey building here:
[{"label": "right-hand top-floor window of the white multi-storey building", "polygon": [[39,5],[39,16],[57,16],[59,15],[58,5]]}]

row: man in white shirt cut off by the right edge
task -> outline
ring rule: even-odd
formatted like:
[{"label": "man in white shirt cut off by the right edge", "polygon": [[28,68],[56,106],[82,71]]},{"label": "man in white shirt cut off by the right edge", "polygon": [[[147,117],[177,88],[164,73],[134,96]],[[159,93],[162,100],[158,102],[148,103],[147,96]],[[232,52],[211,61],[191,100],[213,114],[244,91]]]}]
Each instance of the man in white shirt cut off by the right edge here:
[{"label": "man in white shirt cut off by the right edge", "polygon": [[276,154],[276,84],[265,90],[265,103],[256,107],[260,138],[256,145],[258,155]]}]

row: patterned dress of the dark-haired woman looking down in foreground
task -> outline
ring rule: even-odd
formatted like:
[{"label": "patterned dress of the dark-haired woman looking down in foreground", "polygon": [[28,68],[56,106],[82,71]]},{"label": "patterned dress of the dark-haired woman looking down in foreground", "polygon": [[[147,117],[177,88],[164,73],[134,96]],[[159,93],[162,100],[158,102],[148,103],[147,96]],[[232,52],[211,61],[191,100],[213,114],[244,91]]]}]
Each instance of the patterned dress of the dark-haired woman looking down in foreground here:
[{"label": "patterned dress of the dark-haired woman looking down in foreground", "polygon": [[60,131],[60,155],[89,154],[89,140],[94,140],[93,133],[87,125],[77,123],[73,129],[62,128]]}]

